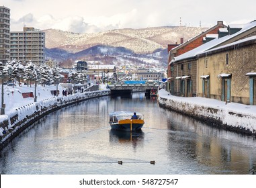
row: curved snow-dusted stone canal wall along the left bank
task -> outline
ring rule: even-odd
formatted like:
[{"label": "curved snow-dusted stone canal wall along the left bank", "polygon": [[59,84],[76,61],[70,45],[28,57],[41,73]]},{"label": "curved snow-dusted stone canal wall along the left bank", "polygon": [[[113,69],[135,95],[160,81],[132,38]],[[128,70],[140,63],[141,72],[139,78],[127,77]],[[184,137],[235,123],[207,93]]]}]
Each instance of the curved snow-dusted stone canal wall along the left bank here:
[{"label": "curved snow-dusted stone canal wall along the left bank", "polygon": [[95,97],[110,95],[110,90],[87,91],[84,93],[75,93],[73,95],[51,97],[42,101],[24,104],[17,107],[15,111],[8,115],[0,117],[0,150],[2,150],[13,138],[19,135],[23,130],[31,126],[40,118],[56,111],[62,107],[80,103]]}]

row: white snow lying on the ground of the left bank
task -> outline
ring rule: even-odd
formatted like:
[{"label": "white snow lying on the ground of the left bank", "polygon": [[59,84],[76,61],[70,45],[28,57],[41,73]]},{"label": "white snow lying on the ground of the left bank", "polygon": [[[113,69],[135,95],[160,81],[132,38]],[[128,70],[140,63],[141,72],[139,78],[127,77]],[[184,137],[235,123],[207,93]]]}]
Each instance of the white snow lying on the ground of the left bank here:
[{"label": "white snow lying on the ground of the left bank", "polygon": [[[91,84],[91,87],[93,85]],[[72,89],[73,94],[72,95],[62,95],[62,91],[67,90],[67,88],[62,87],[61,85],[58,85],[58,90],[60,91],[60,94],[58,97],[52,95],[54,91],[56,91],[56,85],[46,85],[45,87],[42,85],[38,85],[36,87],[36,96],[37,101],[34,102],[34,96],[33,97],[27,97],[24,98],[22,93],[33,93],[35,91],[34,85],[30,87],[30,85],[22,85],[20,86],[3,86],[4,91],[4,103],[5,103],[5,115],[0,115],[0,123],[4,124],[5,126],[0,126],[0,136],[3,136],[5,134],[4,132],[9,129],[11,129],[11,119],[13,117],[17,116],[17,120],[24,120],[24,118],[31,117],[31,115],[34,115],[38,109],[46,109],[50,106],[56,105],[57,101],[64,101],[66,103],[69,101],[74,101],[80,97],[93,97],[98,96],[99,91],[87,91],[84,93],[81,93],[79,91],[75,91]],[[100,92],[105,95],[105,91],[109,91],[107,89],[107,85],[99,85]],[[51,92],[52,91],[52,92]],[[1,101],[1,100],[0,100]],[[8,124],[8,128],[6,127],[6,121]],[[5,136],[4,139],[9,138],[8,136]],[[3,141],[3,140],[2,140]]]}]

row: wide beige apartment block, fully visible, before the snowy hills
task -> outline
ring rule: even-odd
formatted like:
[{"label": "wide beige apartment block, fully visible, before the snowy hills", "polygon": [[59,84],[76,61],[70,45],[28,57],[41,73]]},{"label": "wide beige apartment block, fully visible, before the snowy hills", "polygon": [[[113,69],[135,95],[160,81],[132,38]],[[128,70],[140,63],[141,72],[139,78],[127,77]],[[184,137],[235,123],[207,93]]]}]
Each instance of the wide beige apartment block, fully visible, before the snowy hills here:
[{"label": "wide beige apartment block, fully visible, before the snowy hills", "polygon": [[11,32],[11,59],[32,62],[36,65],[45,62],[45,34],[35,28],[24,27],[23,32]]}]

